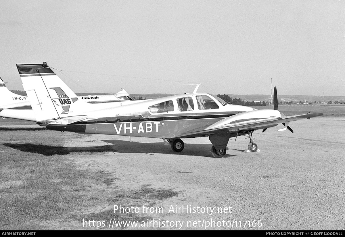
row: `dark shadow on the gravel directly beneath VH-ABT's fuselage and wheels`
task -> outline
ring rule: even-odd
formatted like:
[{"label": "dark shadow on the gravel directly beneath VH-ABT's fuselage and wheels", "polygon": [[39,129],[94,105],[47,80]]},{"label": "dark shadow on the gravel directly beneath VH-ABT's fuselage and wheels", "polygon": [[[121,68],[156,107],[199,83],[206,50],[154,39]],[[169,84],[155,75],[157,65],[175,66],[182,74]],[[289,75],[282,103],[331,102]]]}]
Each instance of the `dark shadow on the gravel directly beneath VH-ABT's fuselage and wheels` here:
[{"label": "dark shadow on the gravel directly beneath VH-ABT's fuselage and wheels", "polygon": [[[165,145],[163,142],[141,143],[123,140],[102,140],[108,144],[113,144],[118,153],[160,153],[160,154],[181,154],[199,157],[211,157],[211,144],[186,144],[181,152],[175,152],[171,149],[170,144]],[[224,157],[234,157],[236,155],[226,154]],[[214,158],[216,159],[216,158]]]}]

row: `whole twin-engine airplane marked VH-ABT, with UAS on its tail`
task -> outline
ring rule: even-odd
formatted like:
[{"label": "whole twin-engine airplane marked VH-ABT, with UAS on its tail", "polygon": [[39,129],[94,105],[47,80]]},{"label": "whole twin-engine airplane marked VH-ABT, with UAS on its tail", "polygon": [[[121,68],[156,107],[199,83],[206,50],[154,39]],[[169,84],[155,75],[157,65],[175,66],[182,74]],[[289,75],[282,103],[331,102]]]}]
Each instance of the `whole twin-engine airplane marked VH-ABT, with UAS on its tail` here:
[{"label": "whole twin-engine airplane marked VH-ABT, with UAS on its tail", "polygon": [[[248,135],[248,149],[257,150],[252,133],[255,130],[323,115],[308,113],[285,116],[278,111],[276,88],[274,110],[230,105],[217,96],[197,93],[174,95],[100,108],[88,104],[43,64],[17,64],[23,87],[29,96],[37,124],[51,130],[110,135],[141,136],[166,139],[174,151],[184,149],[182,138],[208,136],[214,157],[224,157],[230,137]],[[69,106],[68,112],[65,106]]]}]

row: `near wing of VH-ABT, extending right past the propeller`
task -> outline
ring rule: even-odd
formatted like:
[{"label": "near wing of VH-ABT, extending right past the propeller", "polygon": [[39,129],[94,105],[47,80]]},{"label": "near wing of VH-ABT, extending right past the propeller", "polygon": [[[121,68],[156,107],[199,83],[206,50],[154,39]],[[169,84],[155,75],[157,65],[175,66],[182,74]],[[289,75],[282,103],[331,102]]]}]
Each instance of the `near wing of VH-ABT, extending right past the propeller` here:
[{"label": "near wing of VH-ABT, extending right past the propeller", "polygon": [[[241,131],[250,131],[250,130],[258,130],[258,129],[265,129],[268,127],[276,126],[280,123],[288,123],[291,121],[296,121],[304,118],[312,118],[316,116],[321,116],[323,113],[309,113],[309,114],[300,114],[300,115],[293,115],[293,116],[286,116],[286,117],[278,117],[278,118],[267,118],[264,120],[251,120],[251,121],[239,121],[239,122],[232,122],[228,124],[224,124],[221,126],[214,127],[205,126],[201,127],[198,130],[191,130],[186,133],[181,134],[181,138],[190,137],[190,136],[202,136],[202,135],[211,135],[217,133],[237,133]],[[224,120],[226,120],[225,118]]]}]

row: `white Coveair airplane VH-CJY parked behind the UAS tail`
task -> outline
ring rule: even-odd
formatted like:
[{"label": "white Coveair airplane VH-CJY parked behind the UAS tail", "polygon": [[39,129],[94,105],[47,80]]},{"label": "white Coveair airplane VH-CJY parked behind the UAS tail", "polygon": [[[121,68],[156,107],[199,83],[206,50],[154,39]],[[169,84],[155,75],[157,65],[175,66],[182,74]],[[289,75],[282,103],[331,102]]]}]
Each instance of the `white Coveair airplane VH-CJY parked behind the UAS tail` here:
[{"label": "white Coveair airplane VH-CJY parked behind the UAS tail", "polygon": [[[111,102],[128,102],[133,101],[130,95],[122,89],[115,95],[84,95],[77,96],[78,100],[90,104],[111,103]],[[68,112],[68,101],[62,99],[57,101],[64,105],[65,113]],[[120,104],[117,104],[120,105]],[[0,117],[17,118],[36,122],[36,117],[32,111],[30,101],[27,96],[22,96],[11,92],[0,77]]]}]

